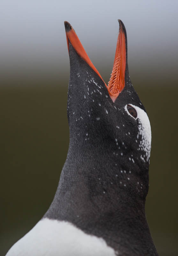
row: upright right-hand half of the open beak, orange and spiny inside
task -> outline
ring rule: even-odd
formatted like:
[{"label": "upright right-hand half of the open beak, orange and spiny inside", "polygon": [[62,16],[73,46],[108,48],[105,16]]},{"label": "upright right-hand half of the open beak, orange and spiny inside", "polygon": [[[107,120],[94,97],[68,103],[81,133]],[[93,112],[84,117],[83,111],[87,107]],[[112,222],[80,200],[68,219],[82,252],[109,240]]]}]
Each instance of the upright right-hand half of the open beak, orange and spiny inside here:
[{"label": "upright right-hand half of the open beak, orange and spiny inside", "polygon": [[117,38],[117,46],[115,51],[115,59],[111,78],[108,82],[108,91],[111,99],[115,102],[119,93],[125,86],[125,67],[126,67],[126,45],[125,34],[122,23],[119,21],[119,35]]}]

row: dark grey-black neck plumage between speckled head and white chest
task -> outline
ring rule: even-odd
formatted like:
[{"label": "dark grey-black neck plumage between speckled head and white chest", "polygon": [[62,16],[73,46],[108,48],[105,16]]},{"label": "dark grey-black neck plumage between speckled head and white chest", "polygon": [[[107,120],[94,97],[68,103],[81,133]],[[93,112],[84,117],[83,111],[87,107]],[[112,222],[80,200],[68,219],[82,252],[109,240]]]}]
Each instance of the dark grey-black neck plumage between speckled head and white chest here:
[{"label": "dark grey-black neck plumage between speckled head and white chest", "polygon": [[94,147],[73,150],[71,141],[54,201],[44,217],[69,221],[87,234],[103,237],[115,250],[142,255],[138,247],[143,255],[157,255],[145,218],[143,180],[137,181],[143,186],[138,191],[135,172],[113,164],[110,148],[98,155]]}]

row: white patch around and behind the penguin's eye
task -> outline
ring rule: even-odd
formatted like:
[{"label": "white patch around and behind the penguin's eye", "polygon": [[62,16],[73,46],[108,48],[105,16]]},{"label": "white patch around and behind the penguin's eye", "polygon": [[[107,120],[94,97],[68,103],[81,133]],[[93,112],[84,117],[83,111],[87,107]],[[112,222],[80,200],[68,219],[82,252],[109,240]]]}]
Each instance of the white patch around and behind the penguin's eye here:
[{"label": "white patch around and behind the penguin's eye", "polygon": [[151,140],[152,140],[152,132],[151,132],[151,126],[150,126],[150,121],[149,118],[146,114],[146,112],[132,104],[128,104],[131,107],[135,108],[137,111],[137,117],[134,118],[132,115],[130,115],[129,111],[127,110],[127,105],[125,106],[125,111],[127,112],[128,115],[130,115],[134,119],[138,119],[138,134],[136,140],[139,138],[139,135],[142,136],[141,140],[138,141],[138,149],[137,150],[143,150],[145,151],[144,155],[141,155],[140,158],[144,162],[148,162],[150,158],[150,150],[151,150]]}]

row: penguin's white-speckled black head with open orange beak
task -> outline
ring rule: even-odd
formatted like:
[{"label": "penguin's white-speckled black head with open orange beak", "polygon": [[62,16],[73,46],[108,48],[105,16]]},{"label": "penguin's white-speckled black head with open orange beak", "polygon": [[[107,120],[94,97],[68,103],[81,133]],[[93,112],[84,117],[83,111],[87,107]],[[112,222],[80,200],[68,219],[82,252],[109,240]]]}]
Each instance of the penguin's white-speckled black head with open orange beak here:
[{"label": "penguin's white-speckled black head with open orange beak", "polygon": [[67,103],[70,146],[88,152],[88,157],[98,155],[103,162],[109,158],[108,168],[119,165],[122,172],[134,169],[136,175],[146,175],[148,187],[151,127],[145,107],[130,81],[127,36],[122,21],[119,20],[115,61],[108,86],[74,29],[68,22],[64,23],[70,56]]}]

